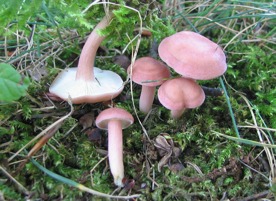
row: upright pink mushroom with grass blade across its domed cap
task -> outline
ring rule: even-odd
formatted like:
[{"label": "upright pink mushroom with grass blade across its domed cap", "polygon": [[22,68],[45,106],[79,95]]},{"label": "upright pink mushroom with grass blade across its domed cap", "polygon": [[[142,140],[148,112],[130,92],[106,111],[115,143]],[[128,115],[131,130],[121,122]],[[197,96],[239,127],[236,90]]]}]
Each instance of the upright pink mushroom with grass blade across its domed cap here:
[{"label": "upright pink mushroom with grass blade across its domed cap", "polygon": [[[130,67],[128,67],[128,73],[130,73]],[[142,90],[139,100],[139,110],[148,113],[151,110],[152,103],[155,96],[155,88],[163,84],[166,79],[171,76],[170,68],[151,57],[142,57],[137,59],[132,66],[132,74],[130,79],[142,85]],[[141,83],[144,81],[160,80],[156,82]]]}]

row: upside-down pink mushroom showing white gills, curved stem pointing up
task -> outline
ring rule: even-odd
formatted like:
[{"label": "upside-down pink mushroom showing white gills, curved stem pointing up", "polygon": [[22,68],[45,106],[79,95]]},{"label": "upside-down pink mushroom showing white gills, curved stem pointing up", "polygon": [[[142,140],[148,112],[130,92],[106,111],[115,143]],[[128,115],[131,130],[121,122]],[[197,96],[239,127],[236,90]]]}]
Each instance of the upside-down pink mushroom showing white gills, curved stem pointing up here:
[{"label": "upside-down pink mushroom showing white gills, curved stem pointing up", "polygon": [[108,101],[121,93],[124,85],[119,75],[93,67],[98,47],[105,39],[105,36],[98,35],[97,30],[104,29],[107,23],[108,17],[105,16],[89,35],[78,68],[59,73],[49,89],[51,94],[66,101],[70,95],[73,103],[95,103]]}]

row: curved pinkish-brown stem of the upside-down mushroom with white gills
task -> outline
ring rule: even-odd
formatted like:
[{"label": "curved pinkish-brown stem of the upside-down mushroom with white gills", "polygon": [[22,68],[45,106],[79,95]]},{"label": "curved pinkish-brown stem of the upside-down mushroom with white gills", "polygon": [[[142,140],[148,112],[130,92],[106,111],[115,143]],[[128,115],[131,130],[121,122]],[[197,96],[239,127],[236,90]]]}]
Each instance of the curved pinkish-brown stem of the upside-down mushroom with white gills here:
[{"label": "curved pinkish-brown stem of the upside-down mushroom with white gills", "polygon": [[79,57],[79,64],[76,74],[76,80],[94,81],[94,60],[96,52],[100,47],[105,36],[100,36],[97,33],[97,29],[104,29],[107,27],[108,17],[105,15],[102,20],[97,24],[89,35],[86,43],[82,48],[82,52]]}]

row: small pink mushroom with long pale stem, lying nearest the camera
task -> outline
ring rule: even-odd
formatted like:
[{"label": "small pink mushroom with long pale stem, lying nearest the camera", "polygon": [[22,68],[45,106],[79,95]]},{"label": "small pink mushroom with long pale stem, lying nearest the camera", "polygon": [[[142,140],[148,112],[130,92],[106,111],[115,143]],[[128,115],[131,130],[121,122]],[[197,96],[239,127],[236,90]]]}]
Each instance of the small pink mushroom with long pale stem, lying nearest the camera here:
[{"label": "small pink mushroom with long pale stem, lying nearest the camera", "polygon": [[133,116],[118,107],[103,110],[96,118],[98,128],[108,130],[108,159],[114,183],[123,187],[125,177],[123,164],[123,133],[122,129],[133,124]]}]

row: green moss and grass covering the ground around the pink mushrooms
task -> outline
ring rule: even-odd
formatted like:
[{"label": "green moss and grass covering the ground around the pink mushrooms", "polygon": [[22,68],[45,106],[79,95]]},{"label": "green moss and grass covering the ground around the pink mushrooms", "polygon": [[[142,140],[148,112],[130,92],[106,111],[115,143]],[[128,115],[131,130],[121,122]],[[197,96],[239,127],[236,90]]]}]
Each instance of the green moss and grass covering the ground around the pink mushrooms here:
[{"label": "green moss and grass covering the ground around the pink mushrooms", "polygon": [[[0,2],[3,5],[0,8],[0,200],[109,199],[82,191],[83,186],[109,195],[140,194],[135,199],[141,201],[213,201],[248,196],[275,199],[271,192],[276,192],[276,148],[265,145],[274,144],[276,131],[273,3],[248,0]],[[26,151],[32,149],[43,133],[33,139],[71,111],[69,103],[49,101],[42,96],[45,97],[44,92],[48,92],[61,69],[76,67],[83,44],[105,9],[113,10],[114,16],[110,25],[99,32],[108,36],[98,50],[95,65],[118,73],[123,80],[127,80],[127,73],[114,62],[114,56],[124,54],[131,60],[133,55],[136,58],[152,55],[156,52],[152,48],[154,39],[159,43],[183,30],[199,32],[220,44],[227,55],[228,70],[220,79],[197,83],[211,88],[225,87],[229,100],[225,94],[206,96],[202,106],[172,119],[157,95],[149,116],[137,111],[141,87],[136,84],[127,82],[121,93],[123,97],[113,99],[135,120],[123,131],[125,175],[135,180],[133,189],[116,189],[112,183],[108,160],[100,152],[107,150],[107,132],[101,131],[101,143],[95,142],[78,123],[91,110],[97,117],[98,111],[107,108],[102,103],[73,104],[74,113],[33,155],[40,166],[82,184],[81,188],[72,188],[68,180],[45,174],[33,159],[19,169],[26,159]],[[140,38],[141,28],[150,30],[152,35]],[[19,76],[18,80],[7,78],[4,68]],[[23,80],[20,74],[24,75]],[[171,74],[178,76],[173,70]],[[14,89],[12,92],[16,88],[20,92],[9,94],[3,87],[4,79],[14,82],[6,85]],[[171,136],[174,147],[179,147],[182,153],[176,158],[172,155],[158,172],[163,156],[154,147],[154,140],[163,132]],[[262,146],[254,146],[254,142]],[[26,144],[29,145],[24,147]],[[74,182],[72,185],[76,185]],[[258,193],[263,197],[257,197]]]}]

